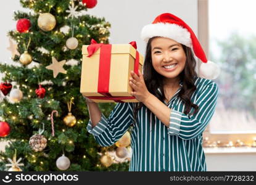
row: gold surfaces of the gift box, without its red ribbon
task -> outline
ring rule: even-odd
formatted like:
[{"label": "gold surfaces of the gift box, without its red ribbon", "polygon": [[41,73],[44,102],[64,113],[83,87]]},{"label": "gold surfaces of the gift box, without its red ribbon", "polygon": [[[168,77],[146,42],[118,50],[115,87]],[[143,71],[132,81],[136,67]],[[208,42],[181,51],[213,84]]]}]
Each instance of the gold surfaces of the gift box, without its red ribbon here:
[{"label": "gold surfaces of the gift box, without its red ribbon", "polygon": [[[101,96],[97,92],[99,77],[99,48],[91,57],[87,57],[87,47],[83,45],[83,64],[81,69],[81,86],[80,92],[83,96]],[[112,44],[110,77],[109,77],[109,94],[111,96],[131,96],[132,88],[129,84],[131,70],[134,70],[136,58],[136,49],[131,44]],[[139,71],[142,72],[144,57],[139,54]],[[115,102],[114,100],[93,99],[94,102]],[[136,99],[123,99],[123,102],[138,102]]]}]

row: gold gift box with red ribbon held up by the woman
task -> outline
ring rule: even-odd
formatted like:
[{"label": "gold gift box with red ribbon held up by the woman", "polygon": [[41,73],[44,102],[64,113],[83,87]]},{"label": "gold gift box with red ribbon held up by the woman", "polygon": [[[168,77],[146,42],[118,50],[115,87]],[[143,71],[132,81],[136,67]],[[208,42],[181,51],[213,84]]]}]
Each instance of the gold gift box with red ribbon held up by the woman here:
[{"label": "gold gift box with red ribbon held up by the woman", "polygon": [[138,102],[131,96],[131,70],[142,73],[144,57],[136,43],[97,44],[82,47],[80,92],[94,102]]}]

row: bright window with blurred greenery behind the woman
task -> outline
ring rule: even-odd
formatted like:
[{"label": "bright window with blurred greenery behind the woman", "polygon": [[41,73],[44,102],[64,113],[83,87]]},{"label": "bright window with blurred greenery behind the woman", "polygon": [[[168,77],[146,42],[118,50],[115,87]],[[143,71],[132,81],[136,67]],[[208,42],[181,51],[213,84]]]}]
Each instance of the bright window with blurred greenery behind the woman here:
[{"label": "bright window with blurred greenery behind the woman", "polygon": [[256,1],[199,0],[199,40],[221,67],[220,94],[205,130],[213,141],[256,140]]}]

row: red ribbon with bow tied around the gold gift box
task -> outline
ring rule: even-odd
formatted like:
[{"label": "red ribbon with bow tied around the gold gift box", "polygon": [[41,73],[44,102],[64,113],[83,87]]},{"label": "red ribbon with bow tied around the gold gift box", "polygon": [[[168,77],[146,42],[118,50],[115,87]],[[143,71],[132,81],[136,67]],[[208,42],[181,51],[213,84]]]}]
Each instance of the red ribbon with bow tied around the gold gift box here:
[{"label": "red ribbon with bow tied around the gold gift box", "polygon": [[[136,41],[131,41],[129,44],[137,49]],[[123,102],[123,99],[135,99],[134,96],[112,96],[109,94],[109,76],[110,76],[110,62],[111,62],[111,44],[98,44],[94,39],[91,39],[91,44],[87,47],[88,56],[91,57],[101,47],[99,55],[99,78],[97,92],[101,96],[86,96],[89,99],[106,99],[114,100],[115,102]],[[136,58],[134,63],[134,73],[138,75],[139,71],[139,52],[136,51]]]}]

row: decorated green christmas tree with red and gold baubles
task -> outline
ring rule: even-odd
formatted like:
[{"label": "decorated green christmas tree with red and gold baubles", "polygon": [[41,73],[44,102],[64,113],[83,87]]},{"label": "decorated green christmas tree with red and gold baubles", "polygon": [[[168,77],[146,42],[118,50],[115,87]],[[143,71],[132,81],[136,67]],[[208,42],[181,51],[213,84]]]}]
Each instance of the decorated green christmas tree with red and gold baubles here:
[{"label": "decorated green christmas tree with red and gold baubles", "polygon": [[[17,28],[8,34],[8,49],[19,65],[0,65],[0,138],[9,141],[0,152],[0,170],[127,171],[129,158],[118,162],[110,155],[117,144],[101,147],[86,130],[81,47],[92,38],[107,44],[110,35],[109,22],[86,14],[97,1],[20,3],[30,12],[14,12]],[[104,115],[114,106],[99,104]],[[119,152],[125,157],[122,147]]]}]

